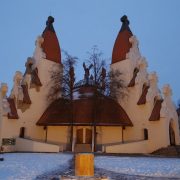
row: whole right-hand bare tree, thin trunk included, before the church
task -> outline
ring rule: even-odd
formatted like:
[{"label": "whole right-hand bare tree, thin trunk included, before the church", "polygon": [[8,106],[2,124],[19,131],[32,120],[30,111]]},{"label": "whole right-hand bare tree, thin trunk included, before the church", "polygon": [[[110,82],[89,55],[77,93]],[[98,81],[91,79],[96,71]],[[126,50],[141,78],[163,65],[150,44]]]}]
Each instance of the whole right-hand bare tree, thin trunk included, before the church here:
[{"label": "whole right-hand bare tree, thin trunk included, before the church", "polygon": [[[92,68],[92,74],[90,76],[90,84],[95,87],[93,94],[93,132],[94,132],[94,151],[96,151],[96,119],[99,110],[99,98],[109,97],[114,100],[118,100],[125,95],[125,86],[121,78],[122,73],[118,70],[106,70],[108,69],[105,64],[105,59],[102,58],[102,52],[99,51],[97,46],[92,48],[92,52],[89,52],[89,70]],[[85,67],[85,64],[83,64]],[[86,74],[86,68],[84,68]],[[86,81],[88,82],[88,81]]]}]

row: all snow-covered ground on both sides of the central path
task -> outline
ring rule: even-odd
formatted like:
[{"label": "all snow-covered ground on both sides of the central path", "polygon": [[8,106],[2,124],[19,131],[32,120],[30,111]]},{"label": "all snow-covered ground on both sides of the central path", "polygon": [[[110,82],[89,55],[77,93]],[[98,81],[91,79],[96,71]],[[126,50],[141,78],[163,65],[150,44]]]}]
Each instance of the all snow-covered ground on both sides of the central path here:
[{"label": "all snow-covered ground on both sides of the central path", "polygon": [[[0,180],[48,179],[53,177],[54,172],[57,177],[64,172],[69,172],[69,175],[73,172],[69,171],[73,168],[69,167],[72,154],[7,153],[0,156],[4,157],[4,161],[0,161]],[[140,176],[180,179],[180,158],[96,156],[95,166],[96,174],[103,172],[110,179],[120,174],[123,174],[122,177],[126,177],[126,174],[139,176],[135,179]]]}]

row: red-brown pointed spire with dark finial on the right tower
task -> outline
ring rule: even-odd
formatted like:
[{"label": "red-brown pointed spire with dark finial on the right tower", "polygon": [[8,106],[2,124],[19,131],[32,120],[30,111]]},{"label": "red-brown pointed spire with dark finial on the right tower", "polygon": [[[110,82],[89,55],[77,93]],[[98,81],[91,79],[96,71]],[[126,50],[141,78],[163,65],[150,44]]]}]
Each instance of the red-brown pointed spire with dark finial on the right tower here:
[{"label": "red-brown pointed spire with dark finial on the right tower", "polygon": [[112,64],[125,60],[126,54],[132,47],[132,44],[129,42],[129,38],[133,36],[133,34],[129,28],[129,20],[126,15],[121,17],[121,22],[122,26],[113,48]]}]

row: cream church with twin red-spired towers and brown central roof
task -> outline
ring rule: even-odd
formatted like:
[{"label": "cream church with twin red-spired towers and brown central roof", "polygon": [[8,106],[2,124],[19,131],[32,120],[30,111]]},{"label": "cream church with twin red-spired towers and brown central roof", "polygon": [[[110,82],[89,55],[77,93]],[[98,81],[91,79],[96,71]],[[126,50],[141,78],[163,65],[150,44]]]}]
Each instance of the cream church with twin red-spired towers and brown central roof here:
[{"label": "cream church with twin red-spired towers and brown central roof", "polygon": [[50,102],[51,73],[63,72],[63,65],[54,18],[48,17],[25,72],[14,75],[9,96],[7,84],[0,84],[0,146],[5,152],[152,153],[180,144],[172,90],[168,84],[158,88],[158,76],[147,72],[127,16],[121,22],[110,68],[122,73],[127,96],[95,98],[84,65],[85,78],[75,84],[73,101],[60,95]]}]

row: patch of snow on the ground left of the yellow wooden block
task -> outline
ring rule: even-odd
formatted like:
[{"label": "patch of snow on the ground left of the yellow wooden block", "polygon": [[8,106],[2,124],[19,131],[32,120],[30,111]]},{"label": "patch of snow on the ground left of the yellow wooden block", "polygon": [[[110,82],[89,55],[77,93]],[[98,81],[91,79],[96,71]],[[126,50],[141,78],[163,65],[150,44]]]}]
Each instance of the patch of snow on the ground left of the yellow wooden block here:
[{"label": "patch of snow on the ground left of the yellow wooden block", "polygon": [[30,180],[45,172],[67,168],[70,154],[8,153],[0,155],[0,180]]}]

